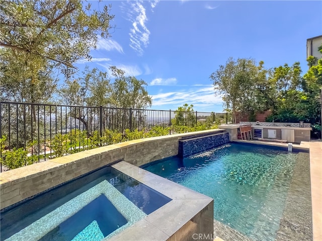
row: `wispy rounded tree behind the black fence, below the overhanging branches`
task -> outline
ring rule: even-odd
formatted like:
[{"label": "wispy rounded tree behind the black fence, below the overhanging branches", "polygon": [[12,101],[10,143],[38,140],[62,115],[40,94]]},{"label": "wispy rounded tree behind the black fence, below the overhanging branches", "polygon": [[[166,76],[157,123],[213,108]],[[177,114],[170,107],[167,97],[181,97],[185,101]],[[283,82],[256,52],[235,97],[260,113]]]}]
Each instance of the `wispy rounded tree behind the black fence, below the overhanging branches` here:
[{"label": "wispy rounded tree behind the black fence, below the overhanging branches", "polygon": [[[111,71],[113,75],[108,76],[106,72],[97,68],[92,70],[86,68],[82,77],[65,82],[59,91],[61,100],[65,104],[78,106],[111,107],[102,109],[105,117],[102,123],[103,129],[109,128],[123,132],[130,122],[133,123],[132,128],[135,129],[137,128],[135,123],[145,121],[144,111],[141,109],[152,103],[152,98],[145,88],[146,82],[134,76],[125,76],[125,72],[115,66],[111,67]],[[70,116],[82,122],[86,131],[101,111],[91,107],[74,107],[74,109],[77,110],[71,111]],[[95,131],[95,128],[97,129],[94,127],[91,130]],[[88,135],[90,135],[89,132]]]}]

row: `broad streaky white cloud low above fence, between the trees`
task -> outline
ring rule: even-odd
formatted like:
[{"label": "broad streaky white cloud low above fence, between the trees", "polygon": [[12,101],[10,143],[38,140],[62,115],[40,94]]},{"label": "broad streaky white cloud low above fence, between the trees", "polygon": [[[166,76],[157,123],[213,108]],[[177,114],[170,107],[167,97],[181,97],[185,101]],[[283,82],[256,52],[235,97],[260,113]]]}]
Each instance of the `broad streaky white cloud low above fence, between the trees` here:
[{"label": "broad streaky white cloud low above fence, between the trees", "polygon": [[152,95],[153,106],[162,105],[182,105],[184,103],[196,106],[211,106],[222,104],[220,95],[215,95],[213,87],[207,88],[190,88],[181,91],[158,93]]}]

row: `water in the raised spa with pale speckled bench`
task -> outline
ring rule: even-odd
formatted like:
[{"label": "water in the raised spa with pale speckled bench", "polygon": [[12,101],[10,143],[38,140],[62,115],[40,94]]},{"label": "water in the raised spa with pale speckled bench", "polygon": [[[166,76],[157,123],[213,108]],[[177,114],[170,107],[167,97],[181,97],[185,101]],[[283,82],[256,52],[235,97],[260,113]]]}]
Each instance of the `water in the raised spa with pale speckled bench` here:
[{"label": "water in the raised spa with pale speckled bench", "polygon": [[1,211],[1,240],[99,241],[171,199],[112,167]]}]

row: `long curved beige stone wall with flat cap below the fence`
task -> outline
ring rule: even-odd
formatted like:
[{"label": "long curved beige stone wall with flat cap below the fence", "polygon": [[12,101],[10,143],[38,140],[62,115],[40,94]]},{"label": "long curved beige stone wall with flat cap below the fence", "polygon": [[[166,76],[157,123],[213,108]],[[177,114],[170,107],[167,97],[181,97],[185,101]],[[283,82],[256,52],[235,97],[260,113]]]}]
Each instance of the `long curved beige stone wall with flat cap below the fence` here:
[{"label": "long curved beige stone wall with flat cap below the fence", "polygon": [[133,140],[0,173],[0,209],[120,159],[141,166],[178,155],[179,140],[183,137],[222,131],[207,130]]}]

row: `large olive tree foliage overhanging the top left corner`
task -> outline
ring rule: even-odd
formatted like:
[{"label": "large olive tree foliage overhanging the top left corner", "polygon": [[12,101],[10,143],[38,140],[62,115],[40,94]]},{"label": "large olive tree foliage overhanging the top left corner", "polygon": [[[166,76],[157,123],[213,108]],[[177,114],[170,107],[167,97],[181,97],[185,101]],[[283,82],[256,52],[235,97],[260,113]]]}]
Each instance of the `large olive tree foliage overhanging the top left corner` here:
[{"label": "large olive tree foliage overhanging the top left corner", "polygon": [[0,5],[1,98],[42,102],[57,75],[69,77],[77,60],[91,58],[98,35],[109,38],[110,7],[97,11],[81,0],[2,1]]}]

